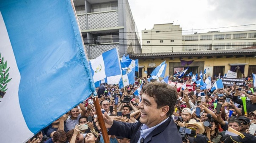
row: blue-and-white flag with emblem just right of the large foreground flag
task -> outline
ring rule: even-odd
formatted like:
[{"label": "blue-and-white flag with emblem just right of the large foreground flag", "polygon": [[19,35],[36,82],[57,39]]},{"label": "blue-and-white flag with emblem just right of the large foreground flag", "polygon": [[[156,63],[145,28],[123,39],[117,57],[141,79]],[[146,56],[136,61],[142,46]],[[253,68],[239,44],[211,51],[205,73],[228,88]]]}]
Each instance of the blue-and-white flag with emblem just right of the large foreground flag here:
[{"label": "blue-and-white flag with emblem just right of the large foreground flag", "polygon": [[[111,55],[111,56],[110,56]],[[121,66],[116,48],[102,53],[90,61],[95,87],[99,87],[102,79],[107,84],[118,84],[121,79]]]}]

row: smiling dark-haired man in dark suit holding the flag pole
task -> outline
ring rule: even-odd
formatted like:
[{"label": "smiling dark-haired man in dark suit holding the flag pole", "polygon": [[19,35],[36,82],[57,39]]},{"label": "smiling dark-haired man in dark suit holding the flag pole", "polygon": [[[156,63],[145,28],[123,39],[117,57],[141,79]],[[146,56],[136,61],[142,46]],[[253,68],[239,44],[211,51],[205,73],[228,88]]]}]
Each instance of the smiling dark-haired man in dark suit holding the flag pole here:
[{"label": "smiling dark-haired man in dark suit holding the flag pole", "polygon": [[[177,90],[164,82],[150,82],[142,89],[141,111],[137,123],[113,121],[103,115],[109,135],[130,138],[130,143],[182,143],[173,118]],[[98,124],[98,123],[96,123]]]}]

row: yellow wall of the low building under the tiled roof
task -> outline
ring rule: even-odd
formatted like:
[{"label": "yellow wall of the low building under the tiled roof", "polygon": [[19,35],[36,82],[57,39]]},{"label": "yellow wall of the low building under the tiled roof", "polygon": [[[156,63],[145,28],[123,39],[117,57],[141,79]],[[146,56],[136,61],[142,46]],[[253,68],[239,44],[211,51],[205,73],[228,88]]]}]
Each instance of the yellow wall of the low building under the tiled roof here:
[{"label": "yellow wall of the low building under the tiled roof", "polygon": [[[224,56],[224,58],[209,58],[207,59],[206,57],[201,58],[201,59],[197,59],[197,58],[193,58],[193,59],[188,59],[188,58],[183,58],[182,60],[184,61],[204,61],[204,69],[206,67],[212,67],[213,66],[225,66],[225,73],[228,72],[228,70],[230,70],[230,65],[229,64],[242,64],[242,63],[247,63],[245,65],[245,75],[247,76],[248,73],[248,67],[249,65],[256,65],[256,58],[226,58]],[[146,77],[146,74],[144,73],[145,70],[147,70],[147,68],[149,67],[149,63],[155,63],[156,66],[159,66],[163,61],[166,61],[167,63],[167,68],[165,71],[165,75],[169,75],[169,62],[180,62],[179,58],[174,58],[174,60],[171,60],[170,58],[164,58],[163,60],[161,58],[156,58],[155,60],[153,60],[152,58],[146,59],[145,61],[143,59],[139,59],[139,66],[144,66],[144,68],[142,69],[142,75],[143,77]],[[154,67],[156,67],[154,66]],[[185,65],[187,66],[187,65]]]}]

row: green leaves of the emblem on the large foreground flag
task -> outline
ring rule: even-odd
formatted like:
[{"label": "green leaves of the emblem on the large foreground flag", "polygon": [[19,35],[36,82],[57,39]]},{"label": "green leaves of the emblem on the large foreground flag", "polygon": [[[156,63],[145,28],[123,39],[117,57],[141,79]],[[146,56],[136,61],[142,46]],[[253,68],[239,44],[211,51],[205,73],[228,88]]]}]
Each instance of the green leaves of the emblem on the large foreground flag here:
[{"label": "green leaves of the emblem on the large foreground flag", "polygon": [[8,79],[9,78],[9,69],[6,69],[7,68],[7,61],[4,61],[4,58],[2,57],[1,59],[1,53],[0,53],[0,91],[4,91],[6,92],[6,90],[8,90],[8,88],[6,89],[7,87],[7,83],[11,81],[11,79]]}]

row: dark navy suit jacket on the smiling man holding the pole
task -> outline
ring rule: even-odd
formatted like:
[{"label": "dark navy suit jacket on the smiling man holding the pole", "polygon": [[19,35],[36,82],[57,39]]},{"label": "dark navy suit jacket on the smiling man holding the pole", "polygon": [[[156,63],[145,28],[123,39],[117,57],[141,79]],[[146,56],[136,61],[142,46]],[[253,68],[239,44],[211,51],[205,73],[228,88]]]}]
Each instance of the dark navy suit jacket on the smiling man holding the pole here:
[{"label": "dark navy suit jacket on the smiling man holding the pole", "polygon": [[[124,123],[114,121],[108,131],[108,135],[122,136],[131,139],[130,143],[138,143],[140,138],[140,127],[143,124]],[[155,128],[144,139],[144,143],[182,143],[182,138],[177,130],[176,124],[172,117],[169,117],[163,124]]]}]

